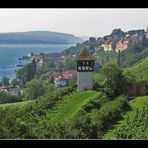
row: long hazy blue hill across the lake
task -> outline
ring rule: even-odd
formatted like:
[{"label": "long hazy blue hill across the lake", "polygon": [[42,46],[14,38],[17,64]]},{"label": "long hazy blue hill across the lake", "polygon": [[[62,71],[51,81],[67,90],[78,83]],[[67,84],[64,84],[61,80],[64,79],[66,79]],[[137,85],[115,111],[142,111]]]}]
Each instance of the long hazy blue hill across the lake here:
[{"label": "long hazy blue hill across the lake", "polygon": [[0,33],[0,44],[73,44],[82,39],[66,33],[29,31]]}]

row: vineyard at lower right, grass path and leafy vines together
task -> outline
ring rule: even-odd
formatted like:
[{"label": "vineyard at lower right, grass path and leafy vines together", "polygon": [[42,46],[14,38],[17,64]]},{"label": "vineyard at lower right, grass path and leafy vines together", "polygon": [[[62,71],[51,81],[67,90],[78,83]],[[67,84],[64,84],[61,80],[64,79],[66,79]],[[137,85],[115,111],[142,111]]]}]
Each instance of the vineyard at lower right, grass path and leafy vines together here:
[{"label": "vineyard at lower right, grass path and leafy vines together", "polygon": [[104,135],[104,139],[148,138],[148,97],[137,97],[129,105],[131,110]]}]

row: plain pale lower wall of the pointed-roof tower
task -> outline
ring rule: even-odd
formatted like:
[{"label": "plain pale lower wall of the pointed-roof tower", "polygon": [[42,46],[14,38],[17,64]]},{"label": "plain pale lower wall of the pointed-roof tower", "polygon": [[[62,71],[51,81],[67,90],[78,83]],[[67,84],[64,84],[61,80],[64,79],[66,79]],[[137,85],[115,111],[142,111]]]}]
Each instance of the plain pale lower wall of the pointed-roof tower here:
[{"label": "plain pale lower wall of the pointed-roof tower", "polygon": [[78,72],[77,90],[92,89],[92,72]]}]

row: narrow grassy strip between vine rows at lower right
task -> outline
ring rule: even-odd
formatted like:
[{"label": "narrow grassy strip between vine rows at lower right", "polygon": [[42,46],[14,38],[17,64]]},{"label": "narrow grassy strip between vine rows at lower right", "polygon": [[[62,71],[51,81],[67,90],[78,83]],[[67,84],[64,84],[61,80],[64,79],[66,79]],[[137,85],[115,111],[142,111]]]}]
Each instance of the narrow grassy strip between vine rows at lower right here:
[{"label": "narrow grassy strip between vine rows at lower right", "polygon": [[123,116],[122,120],[118,121],[111,130],[109,130],[105,135],[104,139],[114,139],[113,131],[118,127],[122,126],[128,117],[132,118],[133,114],[135,114],[136,109],[142,108],[144,104],[148,105],[148,96],[137,97],[136,99],[129,102],[130,106],[132,107],[132,111],[126,112]]}]

